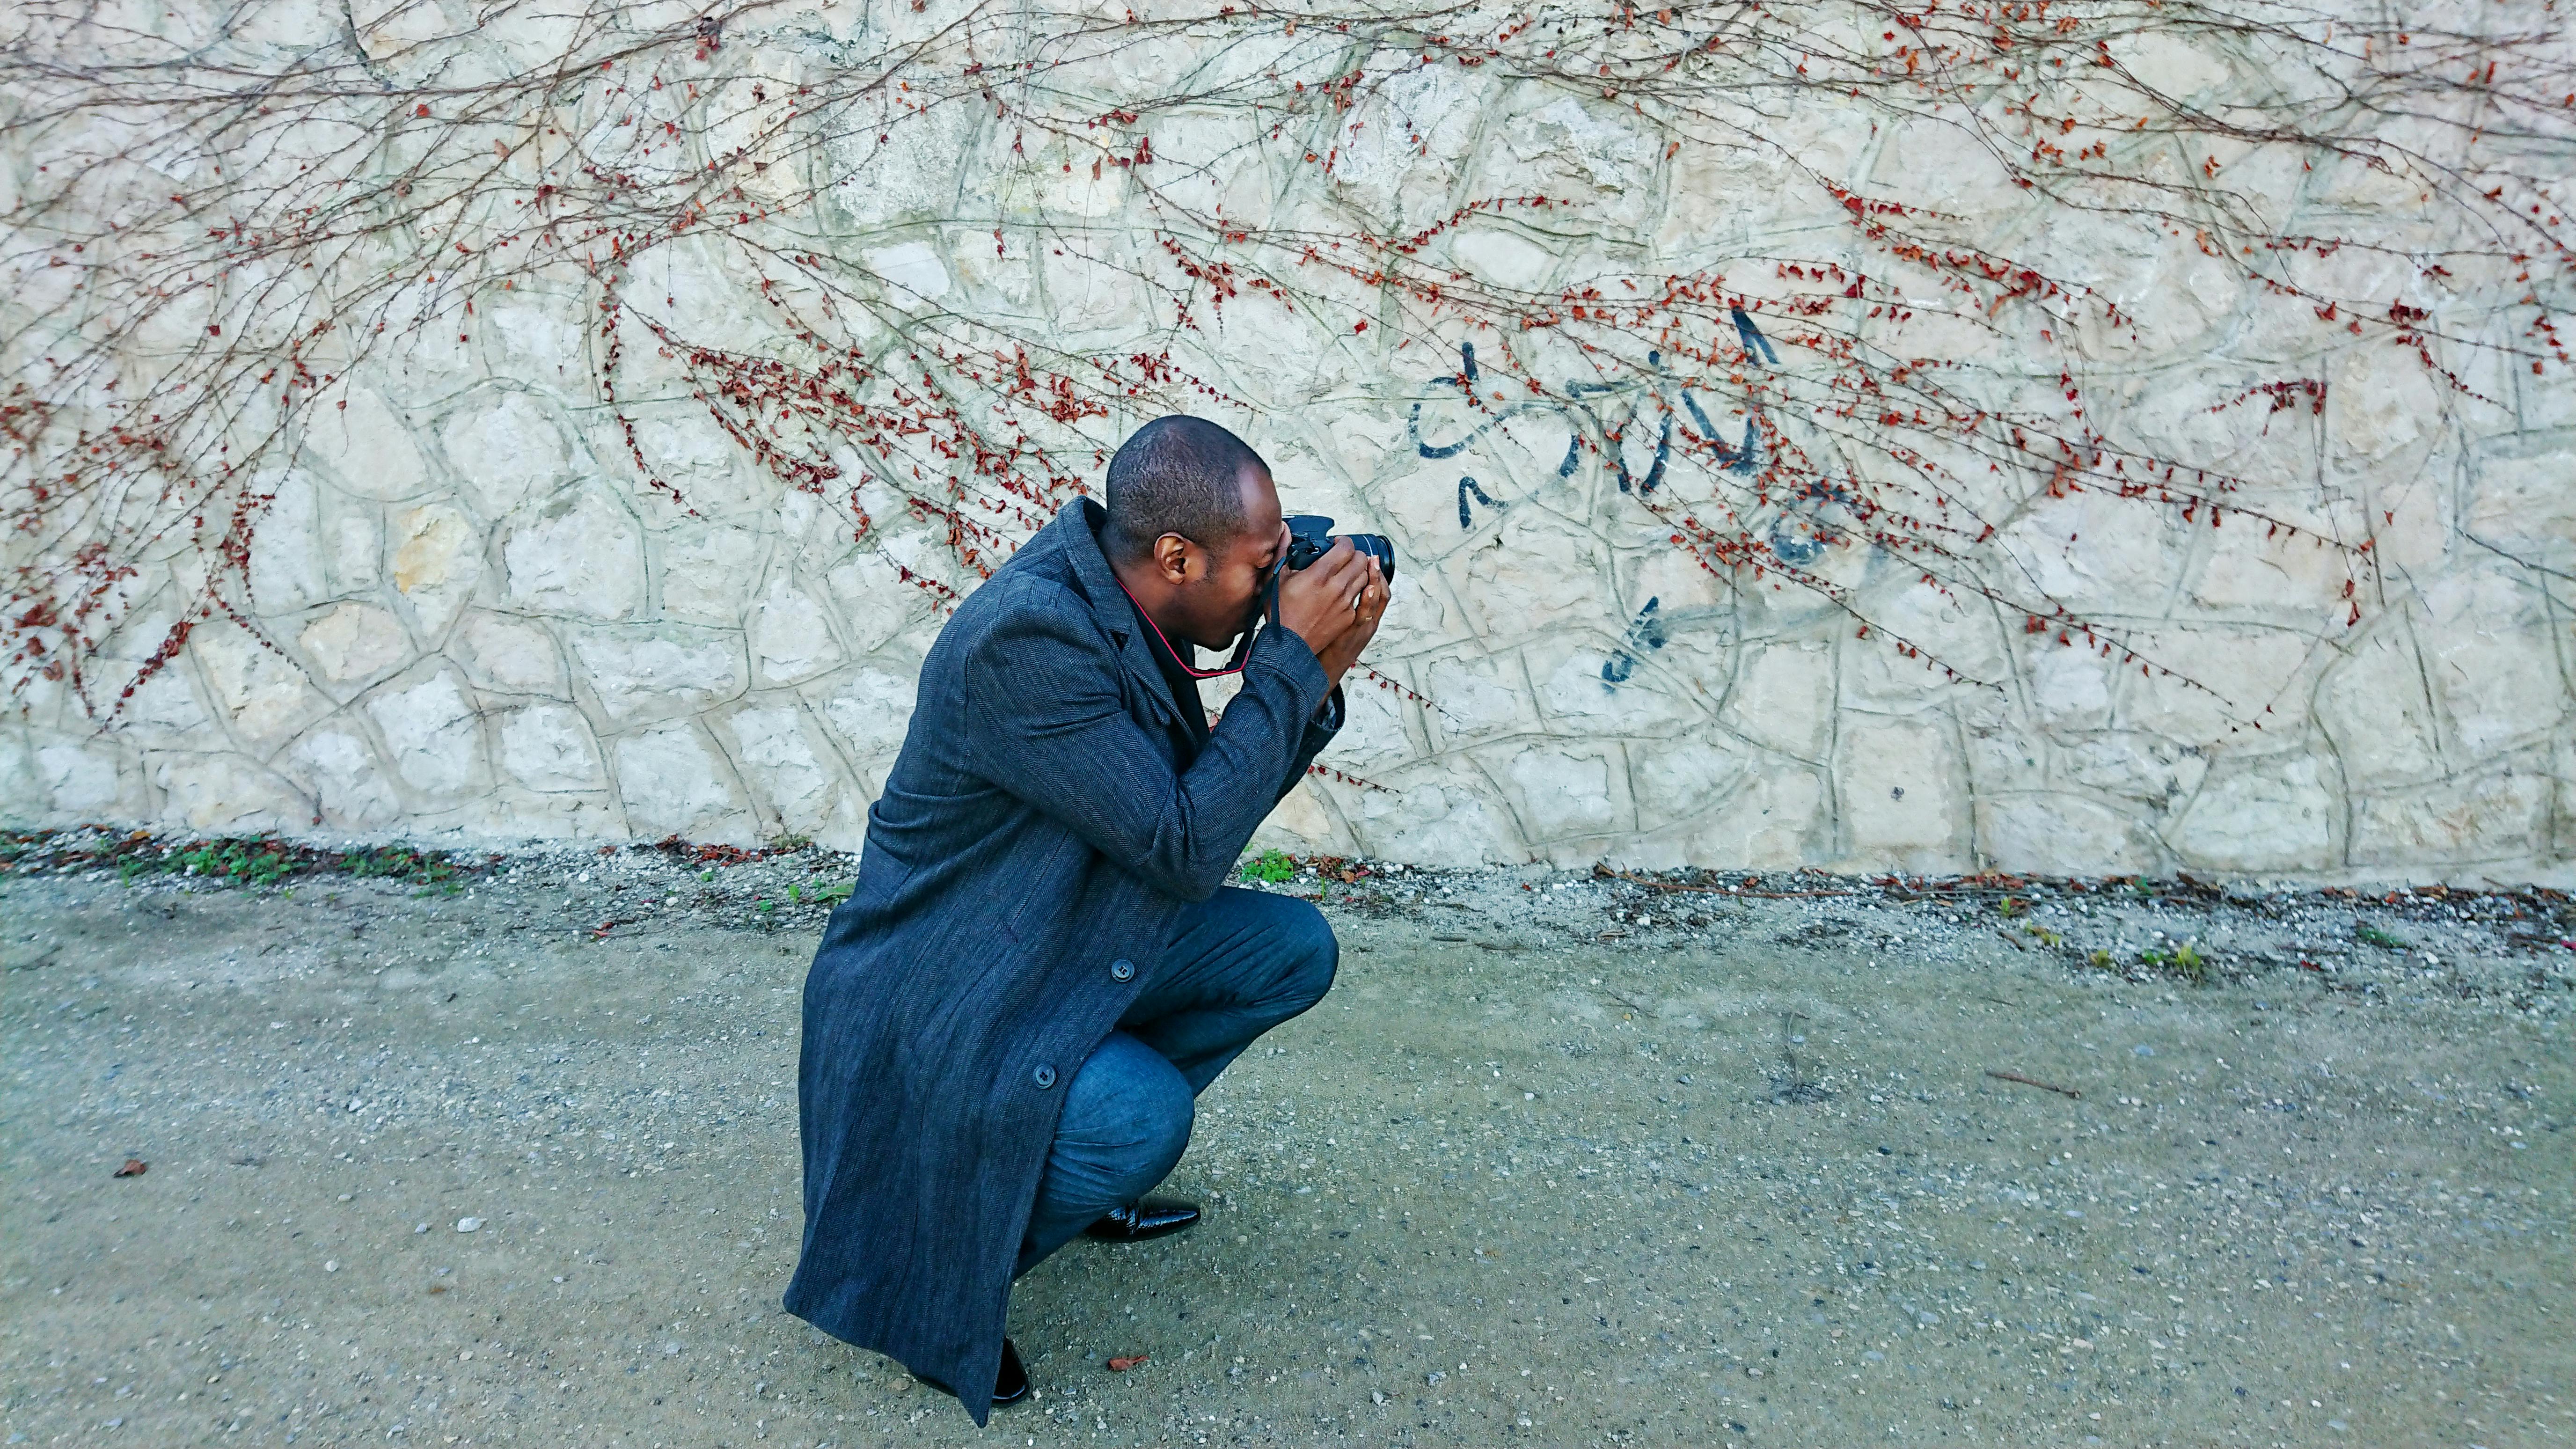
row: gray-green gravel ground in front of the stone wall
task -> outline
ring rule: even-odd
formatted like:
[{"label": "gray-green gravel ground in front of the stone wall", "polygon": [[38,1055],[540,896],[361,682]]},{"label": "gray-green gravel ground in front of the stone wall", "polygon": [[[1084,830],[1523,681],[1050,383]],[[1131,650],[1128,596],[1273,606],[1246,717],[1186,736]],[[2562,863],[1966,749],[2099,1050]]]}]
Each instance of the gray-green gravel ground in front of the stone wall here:
[{"label": "gray-green gravel ground in front of the stone wall", "polygon": [[845,856],[260,848],[8,843],[8,1444],[2576,1436],[2553,892],[1321,861],[979,1434],[778,1310]]}]

